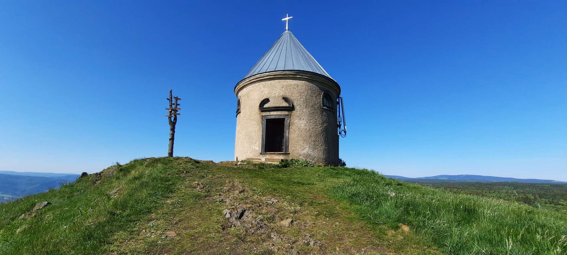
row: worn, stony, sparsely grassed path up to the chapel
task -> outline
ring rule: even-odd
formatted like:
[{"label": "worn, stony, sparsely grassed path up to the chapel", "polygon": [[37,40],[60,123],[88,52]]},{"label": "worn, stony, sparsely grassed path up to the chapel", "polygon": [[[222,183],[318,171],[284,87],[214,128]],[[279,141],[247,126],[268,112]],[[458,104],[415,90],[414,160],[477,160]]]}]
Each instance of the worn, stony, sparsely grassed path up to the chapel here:
[{"label": "worn, stony, sparsely grassed path up to the chapel", "polygon": [[111,254],[398,254],[382,245],[389,241],[316,190],[314,201],[300,205],[293,196],[267,194],[253,181],[239,180],[238,171],[249,166],[179,167],[184,185],[140,220],[135,237],[124,241],[129,235],[118,235],[116,250],[122,252]]}]

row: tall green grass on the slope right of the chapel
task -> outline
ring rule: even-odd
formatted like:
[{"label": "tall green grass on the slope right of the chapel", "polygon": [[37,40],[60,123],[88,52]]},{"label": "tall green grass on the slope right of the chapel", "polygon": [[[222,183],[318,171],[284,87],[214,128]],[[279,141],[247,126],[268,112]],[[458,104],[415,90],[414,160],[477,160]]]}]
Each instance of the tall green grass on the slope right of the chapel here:
[{"label": "tall green grass on the slope right of the chapel", "polygon": [[567,254],[564,214],[345,171],[350,180],[335,186],[337,198],[369,222],[411,226],[447,254]]}]

